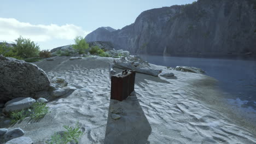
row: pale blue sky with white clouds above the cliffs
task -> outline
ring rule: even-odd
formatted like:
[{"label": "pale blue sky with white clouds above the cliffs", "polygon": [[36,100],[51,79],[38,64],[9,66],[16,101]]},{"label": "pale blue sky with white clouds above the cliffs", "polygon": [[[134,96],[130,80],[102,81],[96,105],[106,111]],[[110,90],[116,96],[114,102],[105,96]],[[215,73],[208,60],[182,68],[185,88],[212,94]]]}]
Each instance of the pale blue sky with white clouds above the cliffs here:
[{"label": "pale blue sky with white clouds above the cliffs", "polygon": [[12,1],[1,0],[0,41],[11,42],[19,35],[30,38],[40,49],[73,44],[98,27],[121,29],[144,10],[192,3],[193,0],[97,0],[97,1]]}]

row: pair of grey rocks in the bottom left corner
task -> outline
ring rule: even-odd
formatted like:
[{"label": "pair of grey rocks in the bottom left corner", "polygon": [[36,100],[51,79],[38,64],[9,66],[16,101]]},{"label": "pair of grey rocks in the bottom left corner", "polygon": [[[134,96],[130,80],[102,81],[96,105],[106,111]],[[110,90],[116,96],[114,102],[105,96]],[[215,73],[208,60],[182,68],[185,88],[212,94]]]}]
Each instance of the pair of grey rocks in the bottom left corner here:
[{"label": "pair of grey rocks in the bottom left corner", "polygon": [[0,143],[5,144],[32,144],[33,141],[30,137],[23,136],[25,133],[20,128],[15,128],[12,130],[0,129]]}]

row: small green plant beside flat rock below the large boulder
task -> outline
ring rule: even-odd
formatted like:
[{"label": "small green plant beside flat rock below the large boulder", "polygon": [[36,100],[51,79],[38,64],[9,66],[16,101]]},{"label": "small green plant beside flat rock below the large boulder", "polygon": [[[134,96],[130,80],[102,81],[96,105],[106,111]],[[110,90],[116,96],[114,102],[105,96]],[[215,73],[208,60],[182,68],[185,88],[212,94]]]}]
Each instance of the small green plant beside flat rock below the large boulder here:
[{"label": "small green plant beside flat rock below the large boulder", "polygon": [[39,103],[36,102],[32,105],[32,114],[31,114],[31,118],[33,119],[40,119],[43,118],[46,113],[49,112],[48,110],[48,106],[46,106],[45,103]]}]

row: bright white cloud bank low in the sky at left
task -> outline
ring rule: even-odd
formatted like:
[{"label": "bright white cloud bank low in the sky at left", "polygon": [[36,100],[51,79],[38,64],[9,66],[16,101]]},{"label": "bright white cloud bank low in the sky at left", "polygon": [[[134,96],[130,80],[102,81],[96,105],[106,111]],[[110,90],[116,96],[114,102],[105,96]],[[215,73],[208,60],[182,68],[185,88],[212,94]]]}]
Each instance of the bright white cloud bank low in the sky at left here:
[{"label": "bright white cloud bank low in the sky at left", "polygon": [[36,42],[49,40],[73,40],[77,35],[85,37],[88,33],[82,27],[72,24],[66,25],[32,25],[27,22],[20,22],[16,19],[5,19],[0,17],[0,40],[14,41],[20,35],[30,38]]}]

